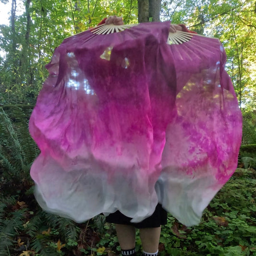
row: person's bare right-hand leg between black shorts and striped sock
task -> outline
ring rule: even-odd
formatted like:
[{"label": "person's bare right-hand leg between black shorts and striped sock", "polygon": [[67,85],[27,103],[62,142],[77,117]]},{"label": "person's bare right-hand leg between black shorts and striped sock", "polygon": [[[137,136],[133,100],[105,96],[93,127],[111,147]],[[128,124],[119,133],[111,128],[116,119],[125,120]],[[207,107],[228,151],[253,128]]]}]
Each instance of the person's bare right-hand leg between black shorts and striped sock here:
[{"label": "person's bare right-hand leg between black shorts and striped sock", "polygon": [[161,227],[140,229],[140,239],[143,250],[147,253],[158,251]]}]

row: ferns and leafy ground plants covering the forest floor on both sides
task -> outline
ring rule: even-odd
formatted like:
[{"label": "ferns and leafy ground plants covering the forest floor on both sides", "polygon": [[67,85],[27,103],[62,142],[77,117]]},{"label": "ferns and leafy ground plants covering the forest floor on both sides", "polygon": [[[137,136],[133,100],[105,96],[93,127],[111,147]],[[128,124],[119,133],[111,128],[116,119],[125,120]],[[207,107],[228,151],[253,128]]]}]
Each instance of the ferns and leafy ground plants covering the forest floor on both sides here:
[{"label": "ferns and leafy ground plants covering the forest floor on both sides", "polygon": [[[28,133],[24,110],[13,107],[8,114],[0,108],[0,256],[120,254],[114,227],[103,215],[77,224],[37,205],[29,170],[39,151]],[[249,153],[244,151],[242,159],[255,159],[255,146],[246,148]],[[240,167],[244,167],[242,161]],[[256,171],[251,166],[237,169],[199,225],[188,228],[168,217],[159,255],[256,255],[255,198]],[[136,250],[142,250],[138,232]]]}]

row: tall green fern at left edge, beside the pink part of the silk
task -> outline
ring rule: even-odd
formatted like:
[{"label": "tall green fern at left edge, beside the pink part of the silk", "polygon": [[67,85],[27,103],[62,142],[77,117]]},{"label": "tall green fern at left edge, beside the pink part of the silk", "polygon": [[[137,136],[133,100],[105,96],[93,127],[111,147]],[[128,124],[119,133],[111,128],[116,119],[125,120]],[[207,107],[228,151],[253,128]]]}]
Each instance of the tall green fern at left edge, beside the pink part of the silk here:
[{"label": "tall green fern at left edge, beside the pink part of the silk", "polygon": [[0,173],[5,181],[18,184],[27,180],[33,160],[39,150],[28,132],[28,116],[20,108],[12,108],[16,122],[0,108]]}]

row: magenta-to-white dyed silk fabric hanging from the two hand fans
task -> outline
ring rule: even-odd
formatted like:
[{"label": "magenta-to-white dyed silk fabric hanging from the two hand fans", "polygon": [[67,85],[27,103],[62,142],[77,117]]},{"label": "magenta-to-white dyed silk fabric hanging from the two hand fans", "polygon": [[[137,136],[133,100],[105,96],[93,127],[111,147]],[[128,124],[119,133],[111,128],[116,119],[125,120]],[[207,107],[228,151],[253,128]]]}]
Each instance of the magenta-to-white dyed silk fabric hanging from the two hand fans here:
[{"label": "magenta-to-white dyed silk fabric hanging from the two hand fans", "polygon": [[169,22],[65,39],[29,129],[40,206],[77,222],[159,203],[186,226],[237,166],[241,111],[218,39],[168,45]]}]

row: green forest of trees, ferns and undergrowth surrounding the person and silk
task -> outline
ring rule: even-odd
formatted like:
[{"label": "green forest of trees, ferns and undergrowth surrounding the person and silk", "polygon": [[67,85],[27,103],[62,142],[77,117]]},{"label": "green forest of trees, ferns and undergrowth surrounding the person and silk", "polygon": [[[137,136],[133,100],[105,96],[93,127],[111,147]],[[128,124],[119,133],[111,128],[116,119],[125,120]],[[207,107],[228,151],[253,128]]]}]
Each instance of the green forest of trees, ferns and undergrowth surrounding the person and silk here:
[{"label": "green forest of trees, ferns and undergrowth surrounding the person and silk", "polygon": [[[17,15],[18,2],[24,7],[21,15]],[[27,122],[48,76],[44,66],[65,37],[109,15],[122,16],[125,24],[171,20],[222,42],[226,70],[244,120],[239,168],[199,226],[186,228],[169,217],[159,251],[173,256],[256,255],[256,2],[11,0],[11,4],[10,23],[0,25],[0,255],[114,255],[120,251],[104,217],[76,224],[41,211],[29,176],[38,149]],[[140,250],[139,242],[137,246]]]}]

